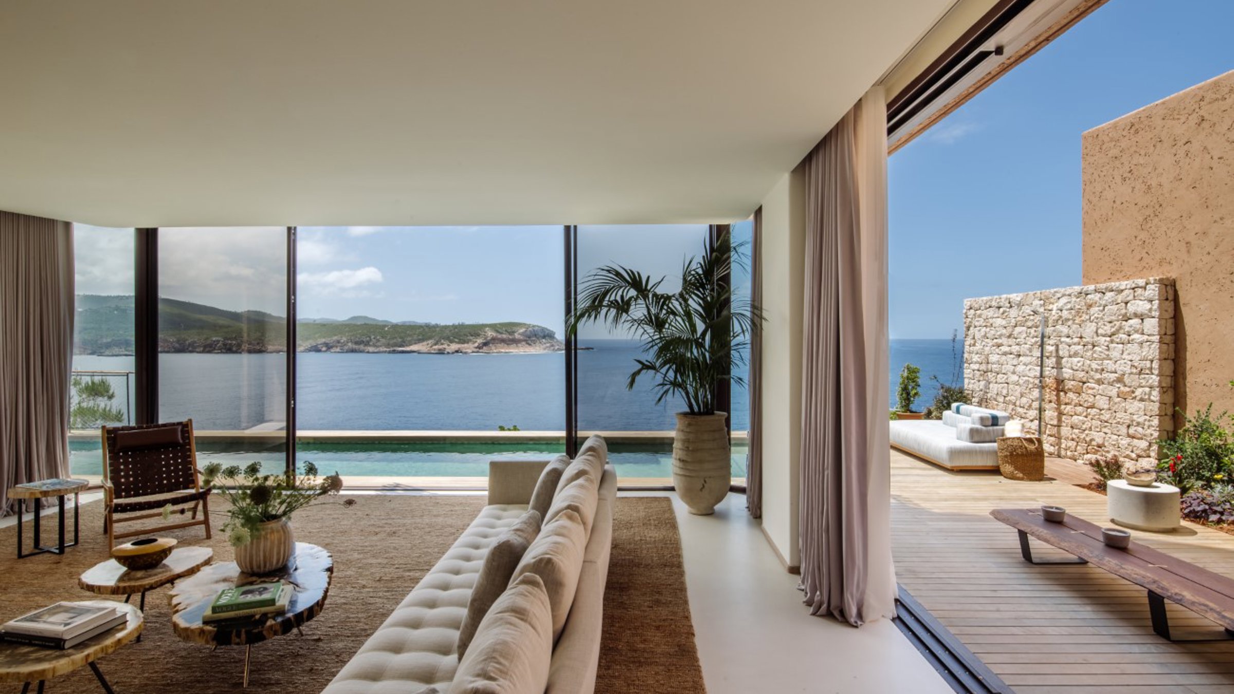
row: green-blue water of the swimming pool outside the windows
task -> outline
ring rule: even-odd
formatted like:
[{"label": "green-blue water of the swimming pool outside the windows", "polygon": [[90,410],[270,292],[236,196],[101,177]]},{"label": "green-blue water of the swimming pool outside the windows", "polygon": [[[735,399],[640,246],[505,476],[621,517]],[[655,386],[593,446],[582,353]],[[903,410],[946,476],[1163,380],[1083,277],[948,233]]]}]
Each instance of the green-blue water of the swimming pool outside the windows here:
[{"label": "green-blue water of the swimming pool outside the windows", "polygon": [[[197,442],[197,464],[218,462],[246,466],[262,462],[268,472],[281,472],[281,449],[255,451],[242,443]],[[321,443],[296,446],[296,462],[311,461],[322,474],[343,477],[487,477],[489,461],[543,461],[563,453],[549,443]],[[732,449],[733,477],[745,477],[743,443]],[[75,475],[102,474],[102,446],[97,441],[69,442],[69,464]],[[608,459],[619,478],[671,478],[671,445],[612,443]]]}]

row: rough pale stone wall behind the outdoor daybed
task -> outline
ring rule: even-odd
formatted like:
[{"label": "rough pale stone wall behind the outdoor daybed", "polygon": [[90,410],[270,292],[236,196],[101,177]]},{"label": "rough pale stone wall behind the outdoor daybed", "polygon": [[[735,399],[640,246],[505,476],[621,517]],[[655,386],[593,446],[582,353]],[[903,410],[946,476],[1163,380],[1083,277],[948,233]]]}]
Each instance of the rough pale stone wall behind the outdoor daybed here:
[{"label": "rough pale stone wall behind the outdoor daybed", "polygon": [[1174,431],[1175,288],[1137,279],[967,299],[964,384],[974,403],[1037,429],[1040,315],[1045,451],[1075,461],[1154,461]]}]

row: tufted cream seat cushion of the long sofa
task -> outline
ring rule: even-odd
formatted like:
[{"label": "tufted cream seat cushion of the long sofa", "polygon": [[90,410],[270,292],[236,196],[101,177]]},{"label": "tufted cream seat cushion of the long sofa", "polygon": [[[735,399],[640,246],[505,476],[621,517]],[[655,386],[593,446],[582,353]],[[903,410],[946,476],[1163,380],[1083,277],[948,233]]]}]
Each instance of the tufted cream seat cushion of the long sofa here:
[{"label": "tufted cream seat cushion of the long sofa", "polygon": [[485,506],[458,542],[424,575],[355,657],[325,689],[328,694],[406,694],[449,689],[471,587],[484,557],[526,505]]}]

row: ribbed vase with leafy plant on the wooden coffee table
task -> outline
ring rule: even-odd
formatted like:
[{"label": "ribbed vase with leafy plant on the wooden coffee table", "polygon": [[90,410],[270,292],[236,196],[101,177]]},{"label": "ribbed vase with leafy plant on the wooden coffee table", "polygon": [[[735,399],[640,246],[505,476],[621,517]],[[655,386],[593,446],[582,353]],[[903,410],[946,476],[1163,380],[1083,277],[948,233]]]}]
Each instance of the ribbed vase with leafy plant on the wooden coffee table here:
[{"label": "ribbed vase with leafy plant on the wooden coffee table", "polygon": [[[236,564],[244,573],[262,574],[286,566],[296,542],[291,514],[343,489],[338,473],[318,478],[317,466],[305,462],[304,474],[262,474],[262,463],[222,467],[210,463],[205,485],[231,504],[223,524],[227,541],[236,548]],[[344,506],[354,499],[342,501]]]}]

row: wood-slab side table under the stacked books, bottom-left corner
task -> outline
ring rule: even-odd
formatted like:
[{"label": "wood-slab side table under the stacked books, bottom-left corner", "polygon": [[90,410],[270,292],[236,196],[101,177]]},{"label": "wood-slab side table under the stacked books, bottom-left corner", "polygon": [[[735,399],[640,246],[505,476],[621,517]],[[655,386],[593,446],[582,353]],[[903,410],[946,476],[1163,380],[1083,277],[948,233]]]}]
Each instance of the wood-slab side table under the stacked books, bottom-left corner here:
[{"label": "wood-slab side table under the stacked books, bottom-left corner", "polygon": [[132,605],[115,600],[88,600],[83,604],[126,611],[128,612],[128,622],[64,651],[0,641],[0,683],[23,683],[21,692],[26,694],[30,692],[30,684],[37,682],[38,690],[42,692],[43,684],[48,679],[75,671],[81,666],[90,666],[94,675],[99,678],[102,690],[107,694],[115,694],[95,661],[137,638],[143,626],[142,612]]}]

